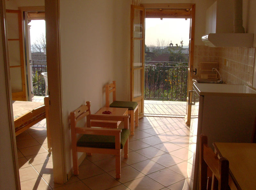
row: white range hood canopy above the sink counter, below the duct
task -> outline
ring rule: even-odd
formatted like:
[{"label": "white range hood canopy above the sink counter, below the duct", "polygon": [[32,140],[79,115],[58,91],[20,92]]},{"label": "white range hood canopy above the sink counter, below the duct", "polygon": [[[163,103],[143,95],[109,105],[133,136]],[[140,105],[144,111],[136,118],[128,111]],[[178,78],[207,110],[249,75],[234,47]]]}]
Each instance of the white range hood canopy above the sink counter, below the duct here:
[{"label": "white range hood canopy above the sink counter, below the duct", "polygon": [[210,47],[252,47],[253,33],[210,33],[202,37]]}]

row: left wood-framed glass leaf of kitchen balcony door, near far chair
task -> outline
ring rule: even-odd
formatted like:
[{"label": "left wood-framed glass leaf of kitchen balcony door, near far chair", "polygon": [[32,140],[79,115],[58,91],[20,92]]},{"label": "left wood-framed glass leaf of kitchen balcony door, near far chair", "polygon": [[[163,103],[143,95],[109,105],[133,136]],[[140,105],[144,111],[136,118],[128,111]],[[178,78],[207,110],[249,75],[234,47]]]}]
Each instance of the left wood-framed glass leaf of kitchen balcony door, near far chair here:
[{"label": "left wood-framed glass leaf of kitchen balcony door, near far chair", "polygon": [[145,9],[131,5],[131,101],[139,104],[139,118],[144,113]]}]

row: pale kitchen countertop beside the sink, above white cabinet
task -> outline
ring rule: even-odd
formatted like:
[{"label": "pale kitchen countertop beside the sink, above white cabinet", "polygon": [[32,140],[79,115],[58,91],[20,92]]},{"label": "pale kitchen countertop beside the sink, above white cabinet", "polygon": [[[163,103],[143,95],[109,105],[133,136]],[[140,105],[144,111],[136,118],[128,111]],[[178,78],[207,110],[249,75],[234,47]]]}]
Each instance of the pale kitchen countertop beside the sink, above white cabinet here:
[{"label": "pale kitchen countertop beside the sink, above white cabinet", "polygon": [[256,91],[245,85],[209,83],[194,83],[193,85],[199,96],[256,97]]}]

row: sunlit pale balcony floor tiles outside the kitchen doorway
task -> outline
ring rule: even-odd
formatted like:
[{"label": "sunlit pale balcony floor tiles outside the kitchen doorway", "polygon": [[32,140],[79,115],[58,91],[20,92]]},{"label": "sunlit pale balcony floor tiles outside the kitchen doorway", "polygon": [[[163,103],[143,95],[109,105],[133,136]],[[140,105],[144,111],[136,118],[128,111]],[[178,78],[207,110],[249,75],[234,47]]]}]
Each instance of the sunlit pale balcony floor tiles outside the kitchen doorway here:
[{"label": "sunlit pale balcony floor tiles outside the kitchen doorway", "polygon": [[144,100],[144,114],[185,116],[187,102]]}]

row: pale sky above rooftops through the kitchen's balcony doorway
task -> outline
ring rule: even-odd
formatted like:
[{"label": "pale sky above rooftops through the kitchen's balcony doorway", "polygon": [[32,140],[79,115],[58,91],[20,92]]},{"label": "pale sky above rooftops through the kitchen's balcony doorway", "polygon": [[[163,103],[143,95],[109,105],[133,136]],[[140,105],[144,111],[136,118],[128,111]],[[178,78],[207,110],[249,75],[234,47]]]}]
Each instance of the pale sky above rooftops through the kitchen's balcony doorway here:
[{"label": "pale sky above rooftops through the kitchen's balcony doorway", "polygon": [[183,40],[183,46],[189,44],[189,24],[190,19],[185,18],[146,18],[145,24],[145,44],[147,46],[156,45],[157,38],[166,42],[180,45]]}]

